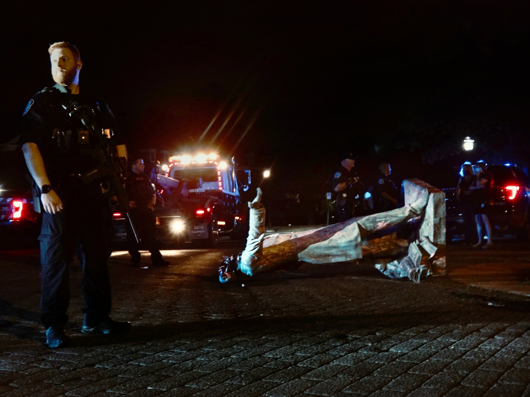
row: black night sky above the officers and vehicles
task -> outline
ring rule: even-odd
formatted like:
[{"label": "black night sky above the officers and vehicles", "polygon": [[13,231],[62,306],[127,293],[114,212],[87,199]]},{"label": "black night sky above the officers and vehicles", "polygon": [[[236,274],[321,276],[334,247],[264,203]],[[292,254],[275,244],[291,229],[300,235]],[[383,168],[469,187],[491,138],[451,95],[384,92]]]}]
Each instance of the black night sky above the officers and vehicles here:
[{"label": "black night sky above the officers and vehicles", "polygon": [[47,48],[66,40],[81,90],[107,99],[130,150],[197,145],[220,111],[200,145],[242,163],[254,152],[273,191],[316,194],[307,186],[325,184],[345,148],[359,172],[389,160],[396,179],[423,176],[422,162],[461,161],[467,135],[476,156],[528,165],[525,1],[131,4],[10,13],[2,141],[54,84]]}]

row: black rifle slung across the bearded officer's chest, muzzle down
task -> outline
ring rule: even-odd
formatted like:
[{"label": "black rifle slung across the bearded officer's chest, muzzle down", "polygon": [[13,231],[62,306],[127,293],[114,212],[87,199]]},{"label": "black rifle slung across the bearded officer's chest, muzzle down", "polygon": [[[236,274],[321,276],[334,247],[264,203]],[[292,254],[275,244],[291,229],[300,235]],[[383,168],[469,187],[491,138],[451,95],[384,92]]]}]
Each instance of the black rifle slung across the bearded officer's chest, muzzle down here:
[{"label": "black rifle slung across the bearded officer's chest, muzzle down", "polygon": [[[89,136],[97,137],[99,139],[99,147],[97,149],[81,149],[81,154],[92,154],[96,167],[81,175],[81,180],[85,184],[94,181],[101,182],[101,192],[106,198],[116,196],[118,198],[118,205],[125,213],[125,218],[129,222],[131,230],[133,230],[136,242],[140,242],[137,230],[135,228],[133,219],[131,219],[129,208],[129,197],[123,187],[123,176],[128,174],[127,159],[125,157],[117,157],[114,154],[115,147],[112,145],[110,134],[103,134],[103,131],[98,127],[95,120],[94,112],[90,106],[81,106],[74,100],[65,102],[63,104],[64,110],[72,118],[81,120],[85,128],[89,131]],[[85,139],[89,139],[86,137]]]}]

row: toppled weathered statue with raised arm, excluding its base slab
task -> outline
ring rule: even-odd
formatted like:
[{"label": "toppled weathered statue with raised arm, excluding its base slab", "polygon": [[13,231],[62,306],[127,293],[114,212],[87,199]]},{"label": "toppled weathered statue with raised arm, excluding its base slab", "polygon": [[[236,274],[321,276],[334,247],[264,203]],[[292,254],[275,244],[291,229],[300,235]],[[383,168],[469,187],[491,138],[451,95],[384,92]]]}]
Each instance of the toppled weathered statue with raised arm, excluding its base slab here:
[{"label": "toppled weathered statue with raised arm, excluding its base slab", "polygon": [[[267,237],[264,237],[266,209],[260,202],[261,195],[258,188],[257,196],[249,202],[250,229],[245,250],[219,264],[222,283],[235,279],[237,272],[252,276],[291,261],[330,264],[366,256],[376,258],[376,268],[391,278],[408,277],[418,283],[432,274],[428,259],[434,256],[436,246],[418,234],[429,200],[427,191],[399,209]],[[389,257],[397,259],[389,260]]]}]

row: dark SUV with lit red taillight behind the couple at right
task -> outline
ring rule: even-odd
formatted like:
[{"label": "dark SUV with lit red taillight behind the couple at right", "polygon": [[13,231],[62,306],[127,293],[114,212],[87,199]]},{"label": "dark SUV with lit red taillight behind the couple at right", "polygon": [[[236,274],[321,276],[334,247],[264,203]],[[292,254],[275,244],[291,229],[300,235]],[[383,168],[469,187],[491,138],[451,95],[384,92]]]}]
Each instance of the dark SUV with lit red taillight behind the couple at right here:
[{"label": "dark SUV with lit red taillight behind the couple at right", "polygon": [[[490,165],[493,175],[491,202],[488,218],[494,234],[516,234],[519,240],[530,238],[530,179],[519,168],[506,165]],[[446,197],[447,241],[463,233],[460,206],[456,201],[455,188],[443,189]]]}]

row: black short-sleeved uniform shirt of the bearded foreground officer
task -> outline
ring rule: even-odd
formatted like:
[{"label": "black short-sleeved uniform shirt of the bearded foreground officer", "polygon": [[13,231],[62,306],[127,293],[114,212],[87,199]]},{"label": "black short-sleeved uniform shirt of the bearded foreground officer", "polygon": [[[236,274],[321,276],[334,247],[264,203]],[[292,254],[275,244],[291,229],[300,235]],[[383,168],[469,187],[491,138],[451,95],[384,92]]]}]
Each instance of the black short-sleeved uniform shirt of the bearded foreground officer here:
[{"label": "black short-sleeved uniform shirt of the bearded foreground officer", "polygon": [[[89,143],[80,143],[79,131],[86,128],[80,120],[70,118],[61,106],[72,99],[80,105],[89,105],[98,119],[98,127],[112,129],[116,134],[112,113],[104,101],[97,101],[90,95],[73,95],[59,84],[33,95],[22,115],[19,142],[20,145],[36,143],[52,185],[95,166],[92,154],[87,154],[85,149],[98,147],[98,137],[89,136]],[[123,143],[117,135],[112,139],[114,145]]]}]

